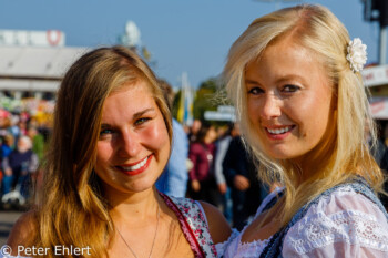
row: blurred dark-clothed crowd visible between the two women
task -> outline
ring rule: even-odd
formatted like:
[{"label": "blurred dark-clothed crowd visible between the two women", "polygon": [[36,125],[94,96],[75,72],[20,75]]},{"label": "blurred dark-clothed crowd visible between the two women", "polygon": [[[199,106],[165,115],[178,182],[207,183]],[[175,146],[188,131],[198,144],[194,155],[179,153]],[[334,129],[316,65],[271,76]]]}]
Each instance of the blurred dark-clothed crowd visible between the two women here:
[{"label": "blurred dark-clothed crowd visible between the two women", "polygon": [[242,229],[269,189],[257,177],[238,123],[216,127],[195,120],[186,134],[188,182],[184,196],[218,207],[233,227]]}]

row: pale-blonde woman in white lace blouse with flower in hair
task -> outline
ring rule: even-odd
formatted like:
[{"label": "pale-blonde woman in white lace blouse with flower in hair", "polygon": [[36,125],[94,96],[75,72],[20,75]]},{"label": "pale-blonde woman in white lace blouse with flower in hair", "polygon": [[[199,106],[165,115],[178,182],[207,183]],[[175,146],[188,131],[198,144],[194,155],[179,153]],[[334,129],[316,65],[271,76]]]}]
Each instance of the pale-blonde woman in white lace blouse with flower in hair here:
[{"label": "pale-blonde woman in white lace blouse with flower in hair", "polygon": [[259,177],[283,188],[261,205],[224,257],[387,257],[381,171],[360,70],[366,47],[326,8],[256,19],[224,76]]}]

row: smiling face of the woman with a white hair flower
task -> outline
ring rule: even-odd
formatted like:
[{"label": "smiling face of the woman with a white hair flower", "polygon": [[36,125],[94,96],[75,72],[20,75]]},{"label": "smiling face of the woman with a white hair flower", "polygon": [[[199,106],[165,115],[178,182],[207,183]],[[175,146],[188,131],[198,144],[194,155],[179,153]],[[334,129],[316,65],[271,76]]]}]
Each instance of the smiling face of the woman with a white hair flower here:
[{"label": "smiling face of the woman with a white hair flower", "polygon": [[333,91],[323,64],[290,38],[267,47],[246,66],[249,123],[264,152],[299,159],[315,148],[330,121]]}]

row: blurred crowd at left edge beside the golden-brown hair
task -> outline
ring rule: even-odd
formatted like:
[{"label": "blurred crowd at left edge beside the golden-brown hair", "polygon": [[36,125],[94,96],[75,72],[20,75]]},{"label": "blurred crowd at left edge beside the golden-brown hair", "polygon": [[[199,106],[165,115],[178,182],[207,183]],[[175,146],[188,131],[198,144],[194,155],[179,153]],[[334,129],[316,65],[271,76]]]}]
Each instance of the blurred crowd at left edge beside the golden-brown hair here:
[{"label": "blurred crowd at left edge beside the golden-brown hair", "polygon": [[0,110],[1,208],[24,208],[33,197],[49,132],[28,112]]}]

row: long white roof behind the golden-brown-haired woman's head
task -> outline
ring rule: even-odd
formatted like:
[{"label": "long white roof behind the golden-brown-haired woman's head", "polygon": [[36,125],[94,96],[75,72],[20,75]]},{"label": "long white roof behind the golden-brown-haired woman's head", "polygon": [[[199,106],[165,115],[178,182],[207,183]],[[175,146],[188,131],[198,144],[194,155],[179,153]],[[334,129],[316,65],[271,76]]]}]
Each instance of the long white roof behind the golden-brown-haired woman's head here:
[{"label": "long white roof behind the golden-brown-haired woman's head", "polygon": [[55,92],[70,65],[89,50],[0,47],[0,91]]}]

